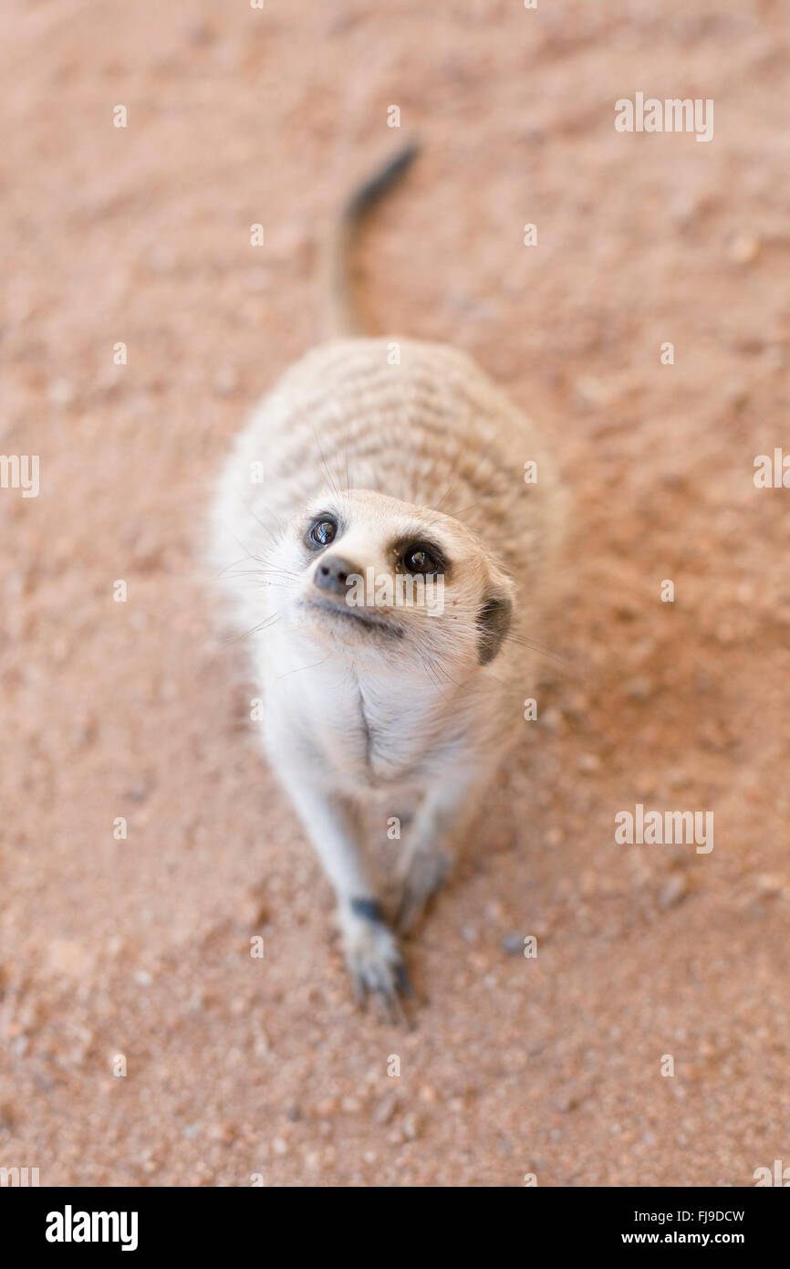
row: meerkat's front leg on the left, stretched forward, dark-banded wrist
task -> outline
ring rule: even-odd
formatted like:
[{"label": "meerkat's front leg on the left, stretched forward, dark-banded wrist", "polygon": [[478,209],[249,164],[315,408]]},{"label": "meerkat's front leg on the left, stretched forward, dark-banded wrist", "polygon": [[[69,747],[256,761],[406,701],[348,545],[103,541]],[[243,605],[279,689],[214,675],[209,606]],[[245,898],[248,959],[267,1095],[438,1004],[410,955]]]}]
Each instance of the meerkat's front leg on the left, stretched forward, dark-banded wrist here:
[{"label": "meerkat's front leg on the left, stretched forward, dark-banded wrist", "polygon": [[379,995],[397,1014],[398,994],[411,991],[397,939],[387,925],[360,850],[358,808],[331,786],[331,775],[317,775],[320,761],[309,760],[278,737],[269,756],[282,784],[332,883],[346,964],[358,999]]}]

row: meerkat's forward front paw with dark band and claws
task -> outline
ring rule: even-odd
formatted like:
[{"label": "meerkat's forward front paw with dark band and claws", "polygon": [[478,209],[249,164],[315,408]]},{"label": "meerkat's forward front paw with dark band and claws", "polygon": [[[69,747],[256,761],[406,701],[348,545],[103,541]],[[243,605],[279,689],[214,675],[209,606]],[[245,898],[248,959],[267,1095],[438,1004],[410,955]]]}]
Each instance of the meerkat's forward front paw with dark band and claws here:
[{"label": "meerkat's forward front paw with dark band and claws", "polygon": [[399,997],[411,996],[411,983],[398,942],[372,900],[353,900],[341,910],[340,924],[346,966],[354,994],[364,1001],[377,995],[393,1022],[403,1022]]}]

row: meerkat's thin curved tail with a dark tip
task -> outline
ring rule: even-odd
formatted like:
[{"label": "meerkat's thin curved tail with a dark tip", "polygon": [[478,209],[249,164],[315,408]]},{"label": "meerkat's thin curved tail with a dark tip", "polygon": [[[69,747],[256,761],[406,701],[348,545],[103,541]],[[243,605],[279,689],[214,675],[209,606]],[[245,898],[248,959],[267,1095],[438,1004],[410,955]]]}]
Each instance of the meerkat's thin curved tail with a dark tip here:
[{"label": "meerkat's thin curved tail with a dark tip", "polygon": [[326,334],[342,338],[364,334],[354,303],[350,255],[361,222],[411,166],[420,152],[410,141],[383,168],[356,189],[342,208],[330,235],[323,268]]}]

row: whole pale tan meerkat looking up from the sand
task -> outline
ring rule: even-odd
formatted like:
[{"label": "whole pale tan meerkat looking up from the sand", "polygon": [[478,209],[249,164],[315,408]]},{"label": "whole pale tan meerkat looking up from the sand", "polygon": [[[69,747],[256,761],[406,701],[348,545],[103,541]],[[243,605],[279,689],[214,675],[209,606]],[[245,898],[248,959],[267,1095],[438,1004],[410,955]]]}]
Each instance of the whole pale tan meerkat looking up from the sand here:
[{"label": "whole pale tan meerkat looking up from the sand", "polygon": [[[411,991],[398,933],[439,891],[524,727],[559,522],[533,425],[469,357],[359,327],[355,235],[415,155],[346,203],[327,255],[330,341],[257,406],[212,515],[265,753],[333,887],[356,995],[391,1010]],[[403,598],[410,581],[432,609]],[[399,857],[392,924],[365,850],[374,803]]]}]

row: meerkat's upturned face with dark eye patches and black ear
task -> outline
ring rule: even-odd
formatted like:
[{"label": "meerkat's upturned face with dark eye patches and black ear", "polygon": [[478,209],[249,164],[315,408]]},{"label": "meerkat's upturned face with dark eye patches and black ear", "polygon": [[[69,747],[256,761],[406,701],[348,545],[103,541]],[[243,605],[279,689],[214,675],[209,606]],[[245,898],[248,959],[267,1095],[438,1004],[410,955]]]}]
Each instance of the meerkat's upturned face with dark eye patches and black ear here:
[{"label": "meerkat's upturned face with dark eye patches and black ear", "polygon": [[510,628],[512,584],[473,533],[369,490],[306,508],[271,562],[288,624],[354,656],[487,665]]}]

